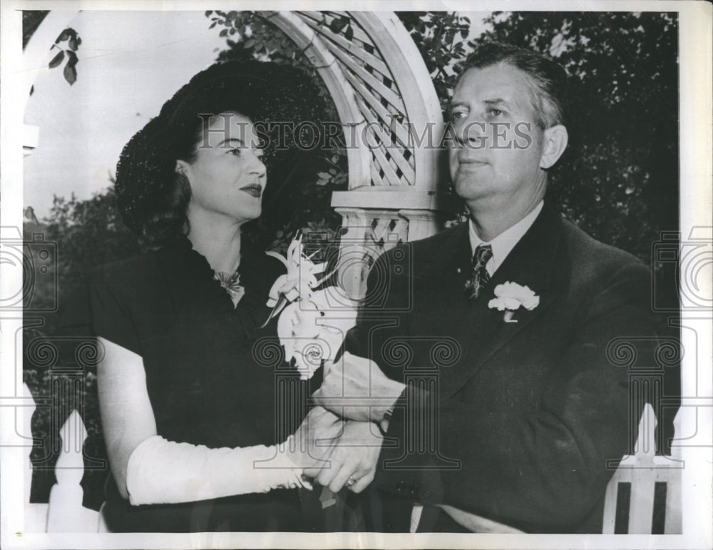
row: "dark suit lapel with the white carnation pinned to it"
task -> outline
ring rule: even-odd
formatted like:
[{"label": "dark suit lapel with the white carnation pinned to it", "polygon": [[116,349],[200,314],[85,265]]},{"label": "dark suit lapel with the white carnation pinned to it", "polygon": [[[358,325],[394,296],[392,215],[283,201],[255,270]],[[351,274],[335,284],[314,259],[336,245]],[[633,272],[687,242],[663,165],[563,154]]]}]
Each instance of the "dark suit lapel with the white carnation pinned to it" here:
[{"label": "dark suit lapel with the white carnation pinned to it", "polygon": [[[466,230],[454,233],[453,238],[460,238],[465,242],[467,247],[465,265],[469,270],[470,244],[467,224],[463,225]],[[451,254],[453,250],[463,254],[462,242],[446,243],[446,245],[451,244],[454,245]],[[443,249],[446,249],[446,246]],[[443,255],[445,254],[444,250]],[[446,270],[453,270],[453,267],[462,261],[458,258],[440,260],[442,268]],[[561,292],[562,282],[568,269],[569,263],[563,245],[562,221],[557,213],[545,205],[535,223],[493,274],[488,285],[483,287],[481,295],[475,302],[468,302],[462,284],[453,290],[458,297],[462,296],[463,310],[458,307],[458,310],[453,313],[463,314],[456,335],[463,348],[463,360],[459,365],[454,365],[452,370],[449,369],[447,376],[442,377],[441,394],[450,397],[457,392],[496,351],[512,340],[530,322],[540,317]],[[439,276],[442,277],[441,280],[447,278],[446,273],[441,273]],[[466,273],[463,281],[467,276]],[[513,319],[518,322],[504,322],[503,312],[488,308],[488,302],[494,297],[495,287],[508,281],[526,285],[540,296],[538,307],[532,311],[520,307],[515,312]]]}]

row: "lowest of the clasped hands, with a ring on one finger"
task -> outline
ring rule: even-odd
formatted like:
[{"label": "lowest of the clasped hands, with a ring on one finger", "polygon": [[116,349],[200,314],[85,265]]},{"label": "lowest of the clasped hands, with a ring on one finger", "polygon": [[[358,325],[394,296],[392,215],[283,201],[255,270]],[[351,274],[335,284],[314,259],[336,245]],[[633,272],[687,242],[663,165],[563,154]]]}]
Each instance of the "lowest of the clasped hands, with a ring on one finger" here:
[{"label": "lowest of the clasped hands, with a ring on one finger", "polygon": [[344,485],[360,493],[371,483],[384,437],[372,422],[344,424],[344,431],[329,455],[329,467],[306,469],[304,475],[336,493]]}]

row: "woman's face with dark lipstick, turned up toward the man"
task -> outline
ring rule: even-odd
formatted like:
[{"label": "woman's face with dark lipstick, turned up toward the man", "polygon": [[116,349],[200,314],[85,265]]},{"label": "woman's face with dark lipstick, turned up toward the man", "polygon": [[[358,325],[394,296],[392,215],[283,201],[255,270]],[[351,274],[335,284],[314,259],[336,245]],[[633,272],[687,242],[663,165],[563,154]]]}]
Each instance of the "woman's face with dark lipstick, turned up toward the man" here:
[{"label": "woman's face with dark lipstick, turned up toward the man", "polygon": [[176,163],[176,170],[190,182],[191,217],[224,215],[238,224],[260,217],[266,185],[260,157],[262,149],[249,118],[237,113],[213,116],[195,160]]}]

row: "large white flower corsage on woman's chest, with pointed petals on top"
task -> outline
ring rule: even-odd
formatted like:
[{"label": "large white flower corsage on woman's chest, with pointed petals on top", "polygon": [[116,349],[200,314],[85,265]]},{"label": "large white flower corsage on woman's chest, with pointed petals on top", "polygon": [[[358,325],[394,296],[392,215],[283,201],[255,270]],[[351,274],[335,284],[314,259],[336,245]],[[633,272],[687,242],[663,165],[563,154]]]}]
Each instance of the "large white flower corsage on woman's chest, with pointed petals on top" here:
[{"label": "large white flower corsage on woman's chest, with pointed petals on top", "polygon": [[287,273],[270,289],[267,307],[272,312],[265,325],[279,315],[277,336],[285,360],[294,360],[300,378],[307,380],[324,361],[334,360],[344,335],[356,324],[356,302],[337,286],[315,290],[332,273],[317,279],[327,263],[313,263],[312,256],[304,254],[301,235],[290,243],[287,258],[268,254],[282,261]]}]

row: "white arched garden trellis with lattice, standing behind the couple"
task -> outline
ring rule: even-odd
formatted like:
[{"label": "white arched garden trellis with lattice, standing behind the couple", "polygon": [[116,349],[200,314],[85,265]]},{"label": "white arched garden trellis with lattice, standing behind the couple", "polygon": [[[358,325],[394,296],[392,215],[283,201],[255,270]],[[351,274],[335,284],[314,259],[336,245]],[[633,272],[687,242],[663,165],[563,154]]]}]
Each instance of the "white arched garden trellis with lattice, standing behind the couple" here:
[{"label": "white arched garden trellis with lattice, standing behind the couple", "polygon": [[[50,12],[25,51],[26,67],[45,66],[48,48],[76,13]],[[443,151],[436,147],[443,135],[436,90],[416,44],[393,12],[261,15],[304,51],[337,107],[349,165],[349,190],[332,196],[332,207],[347,228],[340,281],[350,295],[362,295],[376,255],[398,242],[436,233],[443,218],[458,210],[457,199],[445,190]],[[332,31],[335,18],[349,18],[349,32],[347,27]]]}]

